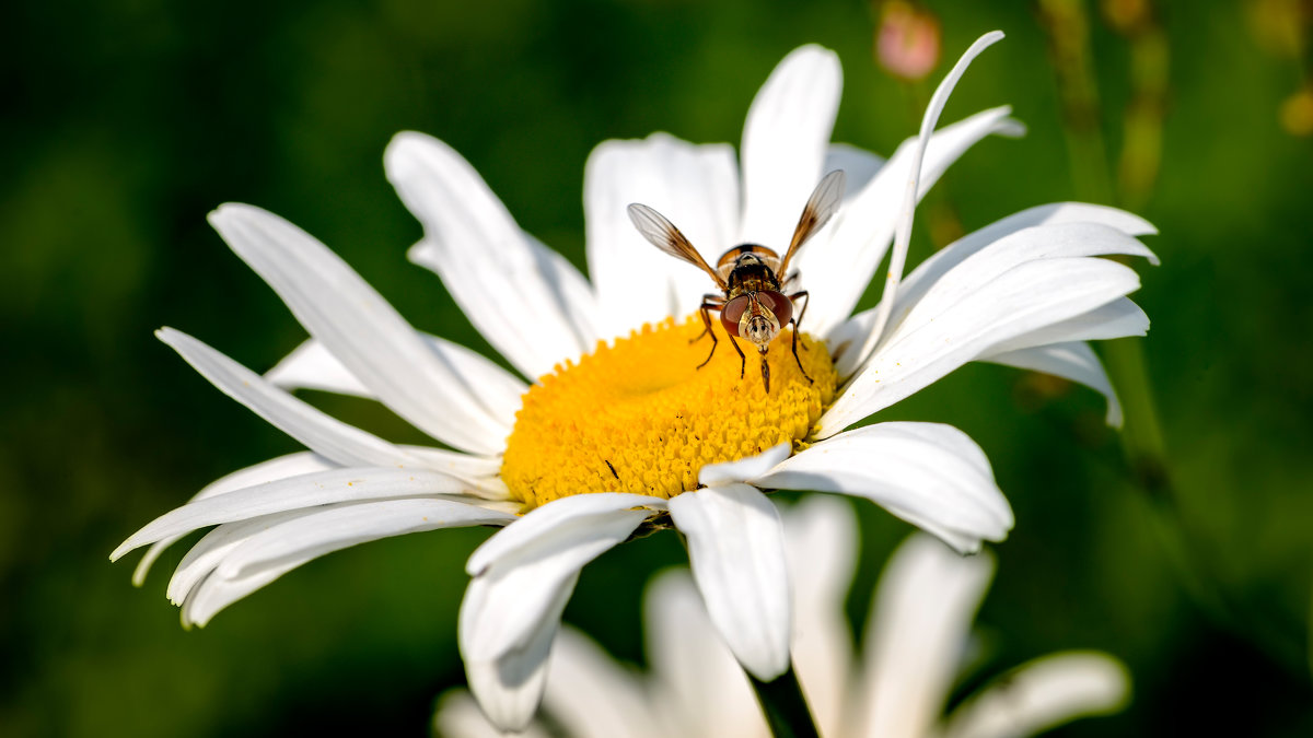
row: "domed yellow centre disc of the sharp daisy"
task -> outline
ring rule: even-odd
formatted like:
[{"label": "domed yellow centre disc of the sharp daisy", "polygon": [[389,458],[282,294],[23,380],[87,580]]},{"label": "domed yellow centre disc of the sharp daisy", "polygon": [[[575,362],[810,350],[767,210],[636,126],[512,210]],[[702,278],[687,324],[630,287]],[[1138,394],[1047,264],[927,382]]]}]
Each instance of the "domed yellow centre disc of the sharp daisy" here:
[{"label": "domed yellow centre disc of the sharp daisy", "polygon": [[637,492],[671,498],[697,488],[708,464],[735,461],[806,437],[834,399],[835,372],[825,343],[798,336],[798,372],[781,332],[767,356],[771,391],[760,358],[739,339],[741,360],[723,328],[697,335],[696,316],[643,326],[614,345],[557,366],[524,395],[507,443],[502,479],[528,507],[582,492]]}]

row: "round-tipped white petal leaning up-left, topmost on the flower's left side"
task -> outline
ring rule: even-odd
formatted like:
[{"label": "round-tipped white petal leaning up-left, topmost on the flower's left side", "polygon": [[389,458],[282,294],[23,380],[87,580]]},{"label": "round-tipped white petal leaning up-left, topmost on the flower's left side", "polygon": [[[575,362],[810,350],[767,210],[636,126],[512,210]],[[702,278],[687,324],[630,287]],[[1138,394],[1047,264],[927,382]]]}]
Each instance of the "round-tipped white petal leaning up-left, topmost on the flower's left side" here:
[{"label": "round-tipped white petal leaning up-left, topmost on the flower's left side", "polygon": [[528,236],[502,201],[452,147],[419,133],[393,137],[387,180],[424,225],[412,261],[442,284],[502,356],[541,377],[591,351],[596,305],[583,276]]}]

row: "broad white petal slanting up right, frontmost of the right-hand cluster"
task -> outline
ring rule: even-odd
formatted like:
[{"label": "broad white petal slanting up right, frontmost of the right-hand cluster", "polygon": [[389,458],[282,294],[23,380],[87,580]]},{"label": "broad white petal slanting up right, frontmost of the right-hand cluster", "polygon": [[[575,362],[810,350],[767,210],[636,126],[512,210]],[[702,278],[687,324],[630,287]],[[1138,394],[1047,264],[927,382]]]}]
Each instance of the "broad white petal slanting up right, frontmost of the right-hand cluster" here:
[{"label": "broad white petal slanting up right, frontmost of the right-hand cluster", "polygon": [[916,330],[905,326],[890,336],[821,416],[814,435],[832,436],[994,345],[1088,313],[1138,288],[1140,277],[1132,269],[1104,259],[1022,264],[934,319],[927,316]]}]

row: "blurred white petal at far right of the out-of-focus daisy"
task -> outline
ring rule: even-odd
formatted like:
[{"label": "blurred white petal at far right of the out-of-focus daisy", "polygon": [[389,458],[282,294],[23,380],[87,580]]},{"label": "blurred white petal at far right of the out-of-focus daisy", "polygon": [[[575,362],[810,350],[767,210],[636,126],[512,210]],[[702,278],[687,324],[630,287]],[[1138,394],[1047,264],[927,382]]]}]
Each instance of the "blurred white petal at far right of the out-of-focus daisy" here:
[{"label": "blurred white petal at far right of the out-of-focus daisy", "polygon": [[1027,662],[985,685],[948,718],[945,738],[1035,735],[1078,717],[1120,710],[1130,676],[1115,658],[1064,651]]}]

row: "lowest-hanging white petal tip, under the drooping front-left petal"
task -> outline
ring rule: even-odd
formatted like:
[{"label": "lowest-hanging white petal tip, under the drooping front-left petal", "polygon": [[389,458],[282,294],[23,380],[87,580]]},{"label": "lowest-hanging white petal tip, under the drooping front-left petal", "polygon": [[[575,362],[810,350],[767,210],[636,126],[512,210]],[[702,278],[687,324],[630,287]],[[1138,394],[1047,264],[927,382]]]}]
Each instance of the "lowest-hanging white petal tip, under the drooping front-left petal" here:
[{"label": "lowest-hanging white petal tip, under the drooping front-left petal", "polygon": [[[521,731],[533,720],[542,701],[548,680],[548,655],[561,629],[561,613],[574,592],[579,573],[566,576],[546,603],[544,616],[525,636],[524,643],[494,658],[477,658],[465,649],[462,628],[461,659],[470,691],[478,697],[483,714],[503,731]],[[471,584],[473,588],[473,584]],[[461,624],[465,624],[466,592],[461,603]]]}]

